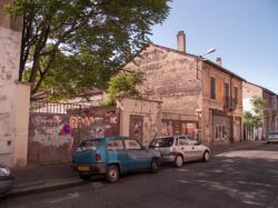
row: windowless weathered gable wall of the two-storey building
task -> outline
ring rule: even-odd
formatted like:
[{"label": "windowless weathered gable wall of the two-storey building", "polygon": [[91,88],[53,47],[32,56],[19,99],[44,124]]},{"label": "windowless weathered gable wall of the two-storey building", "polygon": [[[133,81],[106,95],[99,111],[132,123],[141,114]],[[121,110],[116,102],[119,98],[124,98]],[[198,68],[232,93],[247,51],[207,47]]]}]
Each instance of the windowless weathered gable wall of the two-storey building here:
[{"label": "windowless weathered gable wall of the two-storey building", "polygon": [[195,57],[150,44],[126,69],[143,72],[139,89],[145,97],[161,100],[162,110],[191,117],[201,108],[202,86]]}]

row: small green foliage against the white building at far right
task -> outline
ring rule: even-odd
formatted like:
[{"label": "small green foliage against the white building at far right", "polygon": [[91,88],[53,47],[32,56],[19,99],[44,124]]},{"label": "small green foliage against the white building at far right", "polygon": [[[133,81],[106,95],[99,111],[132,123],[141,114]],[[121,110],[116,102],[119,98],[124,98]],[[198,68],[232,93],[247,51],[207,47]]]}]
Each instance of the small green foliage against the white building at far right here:
[{"label": "small green foliage against the white building at far right", "polygon": [[267,110],[267,102],[260,97],[251,99],[252,112],[244,112],[244,122],[248,128],[258,128],[262,123],[264,113]]}]

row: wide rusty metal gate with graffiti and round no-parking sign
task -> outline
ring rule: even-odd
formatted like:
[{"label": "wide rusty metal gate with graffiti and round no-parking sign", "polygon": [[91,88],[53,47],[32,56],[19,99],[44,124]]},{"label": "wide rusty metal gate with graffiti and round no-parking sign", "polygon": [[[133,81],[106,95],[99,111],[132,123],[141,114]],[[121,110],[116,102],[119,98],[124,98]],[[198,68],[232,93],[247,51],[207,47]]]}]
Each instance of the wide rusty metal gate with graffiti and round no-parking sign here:
[{"label": "wide rusty metal gate with graffiti and round no-parking sign", "polygon": [[116,107],[32,103],[28,162],[71,160],[72,151],[83,139],[119,136],[119,119],[120,111]]}]

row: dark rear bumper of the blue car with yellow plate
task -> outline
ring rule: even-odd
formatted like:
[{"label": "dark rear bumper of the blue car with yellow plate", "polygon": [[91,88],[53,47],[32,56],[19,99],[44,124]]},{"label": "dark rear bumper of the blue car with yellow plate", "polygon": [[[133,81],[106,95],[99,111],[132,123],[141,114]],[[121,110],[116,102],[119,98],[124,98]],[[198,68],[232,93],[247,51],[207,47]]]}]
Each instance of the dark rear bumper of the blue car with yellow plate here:
[{"label": "dark rear bumper of the blue car with yellow plate", "polygon": [[72,164],[71,168],[79,175],[101,175],[106,174],[106,164]]}]

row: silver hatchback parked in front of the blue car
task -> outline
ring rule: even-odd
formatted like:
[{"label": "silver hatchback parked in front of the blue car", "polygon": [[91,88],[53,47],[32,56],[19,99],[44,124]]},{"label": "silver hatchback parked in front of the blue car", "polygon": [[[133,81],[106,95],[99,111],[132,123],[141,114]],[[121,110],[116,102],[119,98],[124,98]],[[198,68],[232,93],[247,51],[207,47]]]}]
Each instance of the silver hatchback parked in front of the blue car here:
[{"label": "silver hatchback parked in front of the blue car", "polygon": [[171,161],[176,167],[181,167],[185,161],[208,161],[210,157],[210,149],[188,135],[157,137],[149,148],[161,153],[161,161]]}]

